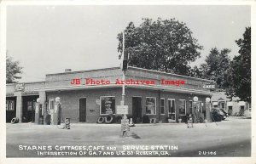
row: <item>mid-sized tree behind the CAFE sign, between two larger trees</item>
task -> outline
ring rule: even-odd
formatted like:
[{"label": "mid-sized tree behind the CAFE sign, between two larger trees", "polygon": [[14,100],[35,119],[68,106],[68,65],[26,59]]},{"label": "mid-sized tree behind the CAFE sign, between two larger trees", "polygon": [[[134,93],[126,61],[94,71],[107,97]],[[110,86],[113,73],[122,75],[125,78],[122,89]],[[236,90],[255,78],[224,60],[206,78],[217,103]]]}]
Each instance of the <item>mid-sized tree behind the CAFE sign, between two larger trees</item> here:
[{"label": "mid-sized tree behind the CAFE sign, between two larger trees", "polygon": [[216,82],[217,88],[226,88],[225,78],[228,75],[230,67],[230,49],[224,48],[221,51],[218,48],[212,48],[207,56],[206,63],[200,67],[201,77]]}]

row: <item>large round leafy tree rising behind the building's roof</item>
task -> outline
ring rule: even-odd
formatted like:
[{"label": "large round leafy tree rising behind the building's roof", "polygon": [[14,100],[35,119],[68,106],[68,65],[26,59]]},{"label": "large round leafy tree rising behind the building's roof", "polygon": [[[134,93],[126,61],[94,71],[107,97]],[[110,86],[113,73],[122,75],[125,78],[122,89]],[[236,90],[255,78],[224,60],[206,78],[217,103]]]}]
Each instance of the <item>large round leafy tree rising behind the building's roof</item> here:
[{"label": "large round leafy tree rising behind the building's roof", "polygon": [[[192,31],[186,24],[175,19],[143,19],[139,26],[131,22],[125,29],[125,50],[129,54],[129,65],[189,75],[189,63],[200,57],[199,51],[202,49],[191,35]],[[120,58],[122,33],[117,38]]]}]

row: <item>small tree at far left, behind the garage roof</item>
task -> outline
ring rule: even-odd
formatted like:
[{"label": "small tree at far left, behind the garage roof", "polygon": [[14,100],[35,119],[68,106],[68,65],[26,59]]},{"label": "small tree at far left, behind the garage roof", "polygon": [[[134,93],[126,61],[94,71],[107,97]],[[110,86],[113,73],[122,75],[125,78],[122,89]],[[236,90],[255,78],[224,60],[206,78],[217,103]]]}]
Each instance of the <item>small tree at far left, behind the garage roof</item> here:
[{"label": "small tree at far left, behind the garage roof", "polygon": [[14,61],[12,57],[6,57],[6,83],[16,82],[16,79],[20,79],[18,74],[22,73],[22,67],[20,67],[19,61]]}]

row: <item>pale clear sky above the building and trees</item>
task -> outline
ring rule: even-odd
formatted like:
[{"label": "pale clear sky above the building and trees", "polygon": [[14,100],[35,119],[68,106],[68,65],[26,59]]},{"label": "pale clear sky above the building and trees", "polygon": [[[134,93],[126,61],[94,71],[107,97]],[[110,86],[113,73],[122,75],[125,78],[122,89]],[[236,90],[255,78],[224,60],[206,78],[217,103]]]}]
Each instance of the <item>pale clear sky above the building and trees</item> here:
[{"label": "pale clear sky above the building and trees", "polygon": [[142,18],[183,21],[203,46],[201,65],[211,48],[230,48],[251,25],[250,6],[8,6],[7,51],[23,67],[19,82],[44,81],[49,73],[119,66],[117,34]]}]

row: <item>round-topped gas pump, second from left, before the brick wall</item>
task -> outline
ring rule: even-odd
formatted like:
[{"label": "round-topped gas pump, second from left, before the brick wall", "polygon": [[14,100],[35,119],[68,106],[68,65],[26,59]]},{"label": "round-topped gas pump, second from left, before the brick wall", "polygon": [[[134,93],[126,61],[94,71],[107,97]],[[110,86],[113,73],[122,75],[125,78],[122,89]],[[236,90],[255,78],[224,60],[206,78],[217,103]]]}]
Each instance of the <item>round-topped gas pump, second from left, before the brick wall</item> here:
[{"label": "round-topped gas pump, second from left, before the brick wall", "polygon": [[55,108],[50,115],[52,125],[61,125],[61,99],[59,97],[55,98]]}]

